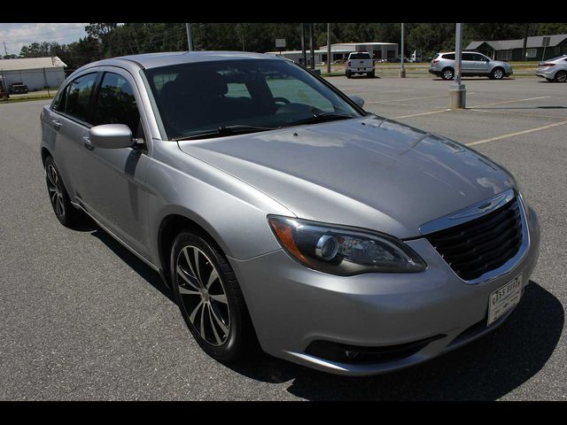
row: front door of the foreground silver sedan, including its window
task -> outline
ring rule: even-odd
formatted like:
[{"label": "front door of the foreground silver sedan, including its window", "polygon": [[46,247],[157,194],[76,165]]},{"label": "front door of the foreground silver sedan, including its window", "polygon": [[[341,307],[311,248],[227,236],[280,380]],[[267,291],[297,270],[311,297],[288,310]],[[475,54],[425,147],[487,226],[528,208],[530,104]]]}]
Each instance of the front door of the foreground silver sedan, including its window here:
[{"label": "front door of the foreground silver sedan, including its window", "polygon": [[125,124],[138,144],[130,148],[89,146],[82,157],[82,203],[95,219],[144,257],[149,257],[147,236],[148,192],[145,174],[149,163],[148,139],[133,78],[122,70],[105,71],[95,92],[93,124]]}]

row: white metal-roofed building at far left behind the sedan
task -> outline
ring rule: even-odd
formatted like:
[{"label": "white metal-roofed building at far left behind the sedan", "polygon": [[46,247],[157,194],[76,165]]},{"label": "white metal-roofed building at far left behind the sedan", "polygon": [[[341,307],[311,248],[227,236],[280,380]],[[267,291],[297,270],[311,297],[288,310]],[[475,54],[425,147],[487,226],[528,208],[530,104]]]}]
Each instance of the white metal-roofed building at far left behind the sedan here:
[{"label": "white metal-roofed building at far left behind the sedan", "polygon": [[52,58],[19,58],[0,60],[0,76],[4,76],[4,84],[23,82],[27,89],[39,90],[48,87],[59,87],[65,81],[66,64],[57,56]]}]

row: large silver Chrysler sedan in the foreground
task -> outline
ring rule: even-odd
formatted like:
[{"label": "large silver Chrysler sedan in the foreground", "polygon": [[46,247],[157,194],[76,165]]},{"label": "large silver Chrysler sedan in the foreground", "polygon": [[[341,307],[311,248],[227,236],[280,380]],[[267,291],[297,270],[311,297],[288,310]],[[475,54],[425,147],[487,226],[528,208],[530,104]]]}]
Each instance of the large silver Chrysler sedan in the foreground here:
[{"label": "large silver Chrysler sedan in the foreground", "polygon": [[502,166],[362,104],[268,55],[95,62],[41,114],[50,203],[159,272],[214,359],[415,365],[509,317],[538,219]]}]

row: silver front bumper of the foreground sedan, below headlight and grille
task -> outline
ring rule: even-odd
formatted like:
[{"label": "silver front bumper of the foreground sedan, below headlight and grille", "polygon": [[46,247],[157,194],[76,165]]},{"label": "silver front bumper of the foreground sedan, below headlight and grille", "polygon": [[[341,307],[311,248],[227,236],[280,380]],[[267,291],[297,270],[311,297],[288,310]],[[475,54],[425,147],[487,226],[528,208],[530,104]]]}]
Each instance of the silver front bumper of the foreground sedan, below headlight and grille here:
[{"label": "silver front bumper of the foreground sedan, below headlight and grille", "polygon": [[[418,274],[336,276],[301,266],[283,251],[229,259],[265,352],[340,375],[375,375],[416,365],[485,335],[488,298],[518,274],[529,282],[539,255],[536,214],[528,217],[529,247],[508,273],[488,282],[463,282],[424,238],[408,241],[428,264]],[[406,357],[373,363],[307,353],[316,341],[390,347],[426,340]]]}]

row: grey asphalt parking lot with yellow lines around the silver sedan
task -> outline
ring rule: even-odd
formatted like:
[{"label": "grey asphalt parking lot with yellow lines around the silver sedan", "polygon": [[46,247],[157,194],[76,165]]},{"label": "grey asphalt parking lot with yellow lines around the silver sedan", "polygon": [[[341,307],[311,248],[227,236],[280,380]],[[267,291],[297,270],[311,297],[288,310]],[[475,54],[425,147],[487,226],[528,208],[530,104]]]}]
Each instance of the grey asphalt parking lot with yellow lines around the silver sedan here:
[{"label": "grey asphalt parking lot with yellow lines around the silver sedan", "polygon": [[0,104],[0,399],[566,399],[567,84],[464,79],[467,109],[451,111],[451,83],[433,77],[329,81],[369,112],[469,144],[515,174],[542,240],[508,321],[389,375],[325,375],[268,356],[224,366],[193,341],[150,267],[94,224],[59,225],[39,154],[45,102]]}]

